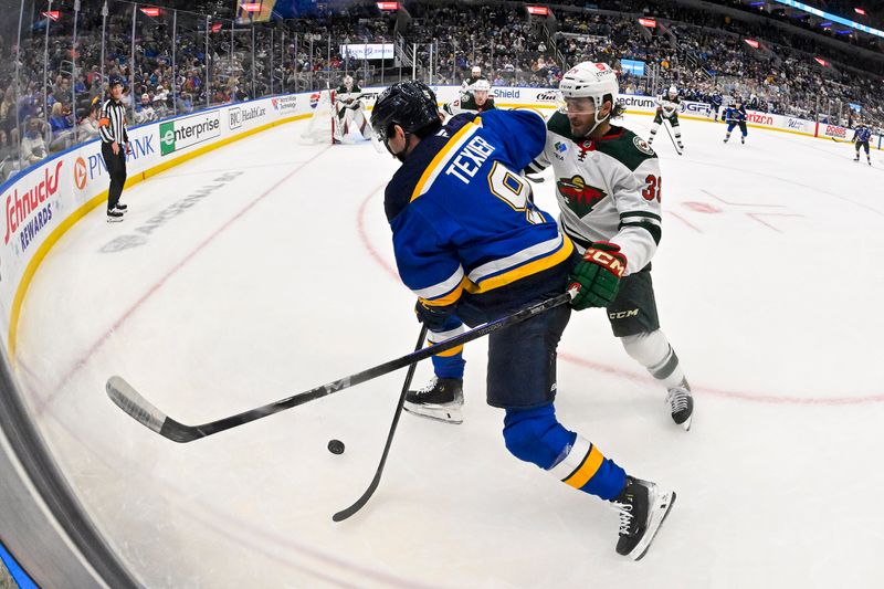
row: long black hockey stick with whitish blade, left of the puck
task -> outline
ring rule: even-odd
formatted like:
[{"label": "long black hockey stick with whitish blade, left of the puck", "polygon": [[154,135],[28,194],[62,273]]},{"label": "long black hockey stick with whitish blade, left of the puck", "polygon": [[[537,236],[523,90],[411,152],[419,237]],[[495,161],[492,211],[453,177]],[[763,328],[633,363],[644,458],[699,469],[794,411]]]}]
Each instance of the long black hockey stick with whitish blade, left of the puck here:
[{"label": "long black hockey stick with whitish blade, left of the puck", "polygon": [[507,315],[505,317],[501,317],[499,319],[480,325],[474,329],[456,335],[444,341],[440,341],[431,347],[412,351],[411,354],[402,356],[401,358],[388,360],[378,366],[362,370],[361,372],[356,372],[338,380],[333,380],[332,382],[320,385],[292,397],[281,399],[249,411],[243,411],[242,413],[236,413],[235,416],[224,419],[210,421],[201,425],[187,425],[173,420],[157,409],[147,399],[145,399],[137,390],[135,390],[131,385],[126,382],[123,377],[113,376],[107,379],[105,389],[107,391],[107,396],[110,397],[110,400],[114,401],[123,411],[128,413],[133,419],[138,421],[141,425],[159,433],[164,438],[172,440],[173,442],[192,442],[193,440],[213,435],[224,430],[236,428],[251,421],[255,421],[261,418],[285,411],[286,409],[292,409],[293,407],[319,399],[322,397],[333,395],[344,389],[348,389],[361,382],[366,382],[367,380],[371,380],[394,370],[399,370],[400,368],[404,368],[410,364],[425,360],[427,358],[435,356],[441,351],[445,351],[462,344],[466,344],[467,341],[478,339],[480,337],[491,334],[492,332],[522,323],[545,311],[564,305],[568,303],[576,294],[577,291],[569,291],[567,293],[556,295],[551,298],[547,298],[546,301],[541,301],[540,303],[523,308],[522,311],[518,311],[512,315]]}]

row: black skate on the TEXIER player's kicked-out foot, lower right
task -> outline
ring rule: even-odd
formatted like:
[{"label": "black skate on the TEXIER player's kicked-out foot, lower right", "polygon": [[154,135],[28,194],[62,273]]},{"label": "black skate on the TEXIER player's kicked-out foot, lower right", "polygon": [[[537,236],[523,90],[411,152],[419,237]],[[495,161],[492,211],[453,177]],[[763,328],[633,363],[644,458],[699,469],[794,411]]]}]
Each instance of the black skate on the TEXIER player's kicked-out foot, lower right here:
[{"label": "black skate on the TEXIER player's kicked-out foot, lower right", "polygon": [[611,503],[620,512],[617,554],[640,560],[675,503],[675,492],[627,476],[627,486]]}]

